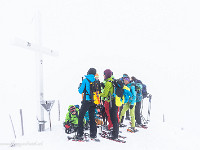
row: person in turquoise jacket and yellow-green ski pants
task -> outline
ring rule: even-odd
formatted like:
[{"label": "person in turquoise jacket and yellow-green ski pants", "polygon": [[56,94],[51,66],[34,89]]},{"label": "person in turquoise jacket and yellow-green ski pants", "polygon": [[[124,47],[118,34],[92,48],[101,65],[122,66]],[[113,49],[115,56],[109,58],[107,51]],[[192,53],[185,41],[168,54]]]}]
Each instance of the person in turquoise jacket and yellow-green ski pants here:
[{"label": "person in turquoise jacket and yellow-green ski pants", "polygon": [[125,77],[124,84],[127,86],[127,89],[124,90],[124,97],[125,97],[125,105],[121,111],[120,115],[120,123],[123,122],[123,118],[125,115],[125,112],[130,109],[130,116],[131,116],[131,128],[132,132],[136,132],[135,129],[135,105],[136,105],[136,91],[134,83],[130,82],[129,77]]}]

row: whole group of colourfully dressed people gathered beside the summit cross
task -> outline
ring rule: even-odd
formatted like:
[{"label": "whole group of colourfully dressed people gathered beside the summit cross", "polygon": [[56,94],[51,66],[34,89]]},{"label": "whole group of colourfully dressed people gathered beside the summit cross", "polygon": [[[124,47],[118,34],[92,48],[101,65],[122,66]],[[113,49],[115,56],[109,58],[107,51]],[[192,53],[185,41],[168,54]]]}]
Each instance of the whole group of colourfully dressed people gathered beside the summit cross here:
[{"label": "whole group of colourfully dressed people gathered beside the summit cross", "polygon": [[[67,129],[70,125],[74,125],[76,138],[83,139],[84,128],[89,124],[90,137],[96,138],[97,124],[108,122],[108,130],[112,131],[110,138],[117,139],[119,127],[124,126],[125,113],[130,110],[130,129],[136,132],[135,126],[142,125],[140,114],[142,89],[142,82],[134,76],[130,78],[127,74],[123,74],[120,79],[114,79],[110,69],[104,71],[104,81],[100,82],[96,69],[90,68],[78,87],[78,92],[82,94],[81,108],[69,106],[64,126]],[[98,112],[103,122],[97,121]]]}]

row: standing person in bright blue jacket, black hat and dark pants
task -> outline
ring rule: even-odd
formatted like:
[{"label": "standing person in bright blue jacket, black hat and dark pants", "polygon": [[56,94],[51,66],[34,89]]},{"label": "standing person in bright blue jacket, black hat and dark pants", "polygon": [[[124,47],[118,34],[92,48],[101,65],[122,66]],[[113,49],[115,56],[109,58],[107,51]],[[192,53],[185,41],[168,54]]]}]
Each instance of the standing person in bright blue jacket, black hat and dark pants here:
[{"label": "standing person in bright blue jacket, black hat and dark pants", "polygon": [[[78,130],[77,130],[77,139],[83,139],[83,119],[87,111],[89,111],[89,124],[90,124],[90,137],[96,138],[97,127],[95,123],[95,108],[96,105],[90,99],[90,82],[95,81],[96,69],[90,68],[83,79],[82,83],[79,85],[78,92],[83,94],[82,105],[79,111],[78,118]],[[89,80],[89,81],[88,81]]]}]

